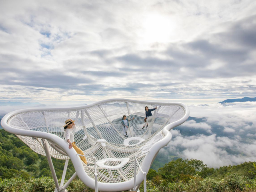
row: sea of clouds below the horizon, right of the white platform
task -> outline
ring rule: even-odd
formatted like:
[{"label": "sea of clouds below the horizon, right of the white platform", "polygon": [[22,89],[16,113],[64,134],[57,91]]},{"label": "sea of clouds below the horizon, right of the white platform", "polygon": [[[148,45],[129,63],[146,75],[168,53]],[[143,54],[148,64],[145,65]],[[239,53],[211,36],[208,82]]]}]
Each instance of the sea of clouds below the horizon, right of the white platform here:
[{"label": "sea of clouds below the horizon, right of the white platform", "polygon": [[198,159],[214,168],[256,160],[256,102],[189,108],[190,118],[171,130],[161,155]]}]

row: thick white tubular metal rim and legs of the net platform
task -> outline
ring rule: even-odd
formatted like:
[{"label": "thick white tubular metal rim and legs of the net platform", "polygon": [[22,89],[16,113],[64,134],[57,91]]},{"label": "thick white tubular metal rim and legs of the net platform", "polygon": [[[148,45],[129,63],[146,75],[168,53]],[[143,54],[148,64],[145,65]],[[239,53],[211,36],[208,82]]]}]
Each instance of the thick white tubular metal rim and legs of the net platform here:
[{"label": "thick white tubular metal rim and legs of the net platform", "polygon": [[[90,178],[90,176],[88,176],[88,174],[86,174],[86,172],[84,171],[84,167],[82,165],[82,162],[80,160],[80,157],[77,155],[75,150],[69,150],[68,146],[69,144],[64,141],[62,138],[54,135],[54,134],[50,134],[47,132],[38,132],[38,131],[32,131],[32,130],[22,130],[22,129],[17,129],[14,127],[11,127],[8,125],[8,119],[10,119],[12,116],[22,113],[22,112],[29,112],[29,111],[47,111],[47,110],[79,110],[79,109],[86,109],[89,108],[91,106],[95,106],[104,102],[110,102],[110,101],[126,101],[126,102],[143,102],[145,104],[154,104],[154,105],[161,105],[161,104],[176,104],[176,105],[180,105],[184,108],[185,110],[185,115],[177,120],[176,122],[172,122],[170,124],[168,124],[167,126],[165,126],[162,130],[162,134],[164,134],[164,138],[162,138],[162,140],[159,140],[158,142],[156,142],[155,144],[153,144],[149,150],[149,152],[146,154],[145,158],[144,158],[144,162],[142,163],[142,165],[140,166],[140,170],[141,172],[138,172],[137,174],[134,175],[134,180],[130,179],[128,181],[122,182],[122,183],[102,183],[102,182],[98,182],[97,181],[97,172],[96,172],[96,163],[95,163],[95,180]],[[68,182],[62,187],[62,185],[64,184],[64,179],[61,182],[60,186],[58,185],[58,180],[56,182],[56,174],[54,172],[54,168],[52,169],[50,165],[51,159],[48,158],[47,152],[46,152],[46,156],[50,165],[50,168],[52,170],[53,173],[53,177],[54,177],[54,182],[56,184],[56,190],[57,191],[63,191],[68,184],[70,184],[70,182],[74,179],[74,177],[77,175],[80,180],[86,184],[88,187],[95,189],[95,190],[100,190],[100,191],[106,191],[106,192],[112,192],[113,189],[115,191],[123,191],[123,190],[130,190],[132,188],[135,189],[134,186],[138,186],[141,184],[141,182],[144,180],[145,182],[145,176],[148,173],[148,170],[154,160],[154,158],[156,157],[158,151],[163,148],[164,146],[166,146],[170,140],[172,139],[172,134],[170,133],[170,130],[176,126],[179,126],[180,124],[184,123],[189,116],[189,109],[186,105],[179,103],[179,102],[147,102],[147,101],[140,101],[140,100],[128,100],[128,99],[108,99],[108,100],[103,100],[103,101],[99,101],[99,102],[95,102],[93,104],[90,105],[86,105],[86,106],[79,106],[79,107],[72,107],[72,108],[31,108],[31,109],[22,109],[22,110],[16,110],[14,112],[10,112],[8,114],[6,114],[1,121],[1,126],[2,128],[4,128],[4,130],[12,133],[12,134],[16,134],[16,135],[22,135],[22,136],[30,136],[30,137],[35,137],[35,138],[42,138],[43,140],[46,139],[49,142],[54,142],[55,144],[57,144],[64,153],[66,153],[69,157],[70,160],[72,161],[74,168],[75,168],[75,173],[74,175],[70,178],[70,180],[68,180]],[[43,142],[43,145],[45,146],[46,144]],[[48,150],[48,147],[45,147],[46,151]],[[49,156],[50,157],[50,156]],[[96,162],[96,158],[94,159]],[[134,161],[135,164],[136,161]],[[65,164],[66,167],[66,164]],[[144,170],[144,171],[142,171]],[[65,168],[64,168],[64,172],[66,172]],[[54,176],[55,174],[55,176]],[[64,174],[64,173],[63,173]],[[135,181],[135,182],[134,182]]]}]

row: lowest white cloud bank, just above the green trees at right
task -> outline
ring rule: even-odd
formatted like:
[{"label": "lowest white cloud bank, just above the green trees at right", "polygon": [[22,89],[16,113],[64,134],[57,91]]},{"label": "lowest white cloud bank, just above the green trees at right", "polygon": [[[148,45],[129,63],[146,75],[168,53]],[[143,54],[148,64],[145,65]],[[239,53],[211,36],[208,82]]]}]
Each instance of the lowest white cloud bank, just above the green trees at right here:
[{"label": "lowest white cloud bank, just above the green trees at right", "polygon": [[[230,139],[228,137],[218,137],[216,134],[210,136],[201,134],[175,137],[162,150],[164,153],[166,151],[172,154],[176,153],[176,155],[182,158],[202,160],[208,166],[218,168],[230,164],[240,164],[245,161],[254,161],[256,158],[255,147],[256,142],[246,144],[240,142],[238,138]],[[226,150],[228,148],[234,154],[228,152]]]}]

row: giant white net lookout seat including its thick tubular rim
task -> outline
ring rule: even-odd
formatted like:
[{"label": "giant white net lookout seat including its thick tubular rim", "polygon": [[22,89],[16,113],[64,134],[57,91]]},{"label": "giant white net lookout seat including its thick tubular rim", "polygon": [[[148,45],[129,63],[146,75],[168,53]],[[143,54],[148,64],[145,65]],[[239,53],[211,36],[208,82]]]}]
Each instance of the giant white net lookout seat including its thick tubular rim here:
[{"label": "giant white net lookout seat including its thick tubular rim", "polygon": [[[142,129],[145,106],[157,109],[152,112],[148,127]],[[134,118],[129,121],[128,138],[122,130],[123,115]],[[72,160],[76,174],[90,188],[95,188],[97,174],[98,190],[122,191],[133,188],[135,158],[142,170],[148,172],[158,151],[170,142],[170,130],[185,122],[188,116],[188,107],[182,103],[110,99],[74,108],[18,110],[4,116],[1,125],[38,154],[47,156],[48,153],[66,162]],[[87,165],[64,140],[62,126],[68,118],[75,120],[74,140],[84,152]],[[142,180],[137,167],[136,186]],[[56,190],[65,189],[65,185],[56,184]]]}]

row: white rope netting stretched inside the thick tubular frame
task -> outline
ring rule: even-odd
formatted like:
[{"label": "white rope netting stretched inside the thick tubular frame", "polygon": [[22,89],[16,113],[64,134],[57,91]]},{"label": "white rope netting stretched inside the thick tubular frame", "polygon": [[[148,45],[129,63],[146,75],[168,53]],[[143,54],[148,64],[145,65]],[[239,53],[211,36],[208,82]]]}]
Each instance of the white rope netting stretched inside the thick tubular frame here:
[{"label": "white rope netting stretched inside the thick tubular frame", "polygon": [[[157,109],[152,111],[153,118],[149,121],[148,127],[142,129],[145,106],[149,109],[155,107]],[[122,183],[134,178],[134,158],[136,157],[138,163],[142,165],[152,145],[165,137],[162,130],[182,118],[183,122],[186,121],[188,118],[186,110],[184,105],[178,103],[116,99],[79,108],[34,109],[20,112],[10,116],[6,123],[19,130],[54,134],[64,141],[65,120],[70,118],[75,120],[74,140],[76,146],[84,152],[88,162],[86,165],[81,161],[84,172],[94,180],[94,157],[96,157],[98,182]],[[128,137],[124,135],[122,129],[123,115],[126,115],[127,119],[132,119],[129,121]],[[46,155],[41,138],[24,134],[16,135],[34,152]],[[63,160],[70,158],[56,142],[50,139],[47,141],[50,156]],[[148,163],[151,164],[152,160]],[[136,174],[139,171],[137,167]]]}]

